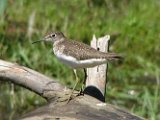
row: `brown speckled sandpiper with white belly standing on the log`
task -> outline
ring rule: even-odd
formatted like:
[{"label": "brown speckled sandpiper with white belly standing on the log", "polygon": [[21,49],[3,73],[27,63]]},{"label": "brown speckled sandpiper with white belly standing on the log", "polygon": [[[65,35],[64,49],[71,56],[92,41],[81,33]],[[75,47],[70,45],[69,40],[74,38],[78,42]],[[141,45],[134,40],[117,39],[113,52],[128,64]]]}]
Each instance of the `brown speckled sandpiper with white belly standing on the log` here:
[{"label": "brown speckled sandpiper with white belly standing on the log", "polygon": [[52,43],[53,53],[57,59],[70,66],[74,71],[76,84],[68,100],[71,99],[73,91],[79,82],[77,69],[85,70],[86,68],[106,64],[108,61],[121,59],[121,56],[116,53],[101,52],[82,42],[70,40],[62,32],[51,32],[42,40],[34,41],[33,44],[41,41]]}]

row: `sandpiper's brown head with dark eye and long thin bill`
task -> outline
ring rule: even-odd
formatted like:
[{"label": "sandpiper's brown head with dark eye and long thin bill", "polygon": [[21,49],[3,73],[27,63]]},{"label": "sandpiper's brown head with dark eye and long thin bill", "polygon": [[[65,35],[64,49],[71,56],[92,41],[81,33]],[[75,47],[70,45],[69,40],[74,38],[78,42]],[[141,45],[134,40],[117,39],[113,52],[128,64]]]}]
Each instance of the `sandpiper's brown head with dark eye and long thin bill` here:
[{"label": "sandpiper's brown head with dark eye and long thin bill", "polygon": [[64,38],[65,36],[62,32],[51,32],[47,34],[42,40],[34,41],[33,44],[41,41],[54,43],[56,41],[63,40]]}]

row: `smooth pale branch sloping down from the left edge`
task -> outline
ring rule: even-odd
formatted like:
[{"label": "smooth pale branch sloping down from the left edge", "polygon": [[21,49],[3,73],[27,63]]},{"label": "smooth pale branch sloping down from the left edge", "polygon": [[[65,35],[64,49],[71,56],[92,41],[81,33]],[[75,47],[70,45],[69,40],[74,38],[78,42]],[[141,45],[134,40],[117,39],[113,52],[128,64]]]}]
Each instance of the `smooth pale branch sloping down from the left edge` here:
[{"label": "smooth pale branch sloping down from the left edge", "polygon": [[67,88],[32,69],[0,60],[0,80],[11,81],[49,100],[47,91],[64,92]]}]

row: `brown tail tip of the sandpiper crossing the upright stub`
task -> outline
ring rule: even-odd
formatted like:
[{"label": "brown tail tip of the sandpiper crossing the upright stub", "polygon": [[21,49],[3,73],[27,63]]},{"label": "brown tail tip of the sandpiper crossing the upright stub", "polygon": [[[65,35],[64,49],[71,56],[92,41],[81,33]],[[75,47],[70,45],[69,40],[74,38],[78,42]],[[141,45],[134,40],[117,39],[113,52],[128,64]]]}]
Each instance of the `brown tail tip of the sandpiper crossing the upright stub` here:
[{"label": "brown tail tip of the sandpiper crossing the upright stub", "polygon": [[107,60],[111,60],[111,61],[112,60],[122,60],[123,59],[121,55],[118,55],[116,53],[107,53],[105,58]]}]

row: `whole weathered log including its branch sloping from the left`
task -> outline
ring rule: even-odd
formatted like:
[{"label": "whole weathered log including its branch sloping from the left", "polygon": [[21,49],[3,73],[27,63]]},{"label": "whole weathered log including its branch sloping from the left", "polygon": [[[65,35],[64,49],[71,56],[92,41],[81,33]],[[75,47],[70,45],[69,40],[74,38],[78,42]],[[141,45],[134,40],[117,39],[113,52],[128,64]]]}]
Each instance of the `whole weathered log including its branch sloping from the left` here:
[{"label": "whole weathered log including its branch sloping from the left", "polygon": [[126,110],[103,103],[88,95],[75,97],[66,104],[67,91],[70,90],[58,81],[3,60],[0,60],[0,80],[11,81],[50,101],[47,105],[25,115],[21,118],[23,120],[142,120]]}]

